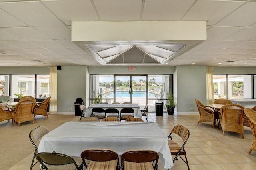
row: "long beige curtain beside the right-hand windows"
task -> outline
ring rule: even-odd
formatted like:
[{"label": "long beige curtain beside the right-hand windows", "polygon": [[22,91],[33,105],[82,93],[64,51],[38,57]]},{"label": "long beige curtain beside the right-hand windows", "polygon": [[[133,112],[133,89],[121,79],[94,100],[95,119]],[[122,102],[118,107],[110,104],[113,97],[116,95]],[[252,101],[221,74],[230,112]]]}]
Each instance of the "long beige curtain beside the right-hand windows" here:
[{"label": "long beige curtain beside the right-hand windows", "polygon": [[212,77],[212,67],[206,68],[206,104],[214,103],[214,89],[213,89],[213,77]]}]

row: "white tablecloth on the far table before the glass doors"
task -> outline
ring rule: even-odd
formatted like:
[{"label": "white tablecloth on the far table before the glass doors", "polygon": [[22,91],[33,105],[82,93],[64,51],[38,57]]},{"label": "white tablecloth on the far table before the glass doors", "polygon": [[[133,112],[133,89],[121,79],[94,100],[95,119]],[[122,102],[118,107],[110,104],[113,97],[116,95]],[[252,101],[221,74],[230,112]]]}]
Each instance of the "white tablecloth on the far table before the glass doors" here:
[{"label": "white tablecloth on the far table before the glass doors", "polygon": [[105,110],[107,108],[116,108],[119,110],[119,115],[120,115],[120,111],[122,108],[133,108],[134,109],[134,117],[142,118],[140,106],[135,103],[131,103],[131,104],[104,104],[104,103],[91,104],[90,106],[87,107],[84,117],[91,116],[93,108],[103,108]]}]

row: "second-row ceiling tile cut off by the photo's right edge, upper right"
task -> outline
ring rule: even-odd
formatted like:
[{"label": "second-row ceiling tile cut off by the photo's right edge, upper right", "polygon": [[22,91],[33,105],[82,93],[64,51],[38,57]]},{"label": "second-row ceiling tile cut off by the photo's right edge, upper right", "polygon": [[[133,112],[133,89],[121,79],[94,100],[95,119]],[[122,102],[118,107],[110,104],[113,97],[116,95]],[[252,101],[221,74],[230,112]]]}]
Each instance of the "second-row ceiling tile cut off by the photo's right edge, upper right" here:
[{"label": "second-row ceiling tile cut off by the photo's right edge, upper right", "polygon": [[255,36],[256,28],[245,28],[224,38],[224,40],[251,40]]}]

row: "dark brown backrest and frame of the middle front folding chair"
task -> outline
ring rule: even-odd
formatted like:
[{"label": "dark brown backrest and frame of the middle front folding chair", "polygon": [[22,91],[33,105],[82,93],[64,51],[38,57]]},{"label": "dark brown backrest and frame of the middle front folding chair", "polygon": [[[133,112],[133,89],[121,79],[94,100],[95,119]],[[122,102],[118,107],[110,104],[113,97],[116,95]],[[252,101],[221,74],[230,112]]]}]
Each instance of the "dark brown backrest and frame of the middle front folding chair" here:
[{"label": "dark brown backrest and frame of the middle front folding chair", "polygon": [[86,160],[106,162],[116,160],[116,169],[119,166],[118,154],[110,149],[86,149],[81,153],[81,158],[87,168]]}]

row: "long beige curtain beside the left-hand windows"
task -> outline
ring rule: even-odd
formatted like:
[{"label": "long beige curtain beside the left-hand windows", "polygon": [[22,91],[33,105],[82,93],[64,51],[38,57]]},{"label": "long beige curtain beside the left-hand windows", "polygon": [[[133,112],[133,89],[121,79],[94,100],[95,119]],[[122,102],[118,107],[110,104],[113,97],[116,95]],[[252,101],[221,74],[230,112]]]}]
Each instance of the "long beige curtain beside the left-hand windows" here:
[{"label": "long beige curtain beside the left-hand windows", "polygon": [[50,67],[50,113],[57,113],[57,68]]}]

